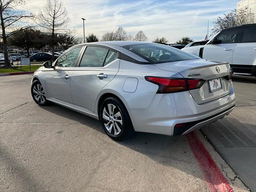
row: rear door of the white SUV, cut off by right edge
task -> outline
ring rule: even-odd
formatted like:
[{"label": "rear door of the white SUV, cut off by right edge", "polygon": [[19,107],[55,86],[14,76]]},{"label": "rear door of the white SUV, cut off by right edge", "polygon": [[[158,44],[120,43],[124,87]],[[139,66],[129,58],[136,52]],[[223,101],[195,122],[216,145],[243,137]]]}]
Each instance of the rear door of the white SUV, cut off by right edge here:
[{"label": "rear door of the white SUV, cut off by right edge", "polygon": [[238,73],[251,73],[256,65],[256,29],[242,30],[242,38],[236,44],[233,53],[232,68],[240,68]]}]

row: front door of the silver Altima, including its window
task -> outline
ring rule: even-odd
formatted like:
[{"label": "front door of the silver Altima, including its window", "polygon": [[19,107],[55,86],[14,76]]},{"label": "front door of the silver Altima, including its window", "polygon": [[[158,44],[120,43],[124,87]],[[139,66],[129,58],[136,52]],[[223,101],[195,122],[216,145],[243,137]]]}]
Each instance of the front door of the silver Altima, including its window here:
[{"label": "front door of the silver Altima, including its window", "polygon": [[68,50],[56,60],[54,68],[46,73],[45,83],[49,99],[74,106],[70,94],[70,80],[82,48],[83,46],[78,46]]}]

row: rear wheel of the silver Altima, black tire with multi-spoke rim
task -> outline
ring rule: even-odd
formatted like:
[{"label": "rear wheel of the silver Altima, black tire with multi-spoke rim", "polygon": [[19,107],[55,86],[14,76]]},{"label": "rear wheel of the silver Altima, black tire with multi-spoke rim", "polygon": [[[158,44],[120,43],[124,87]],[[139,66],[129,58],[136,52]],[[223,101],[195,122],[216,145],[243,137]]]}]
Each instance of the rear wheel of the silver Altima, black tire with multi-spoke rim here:
[{"label": "rear wheel of the silver Altima, black tire with multi-spoke rim", "polygon": [[[115,106],[113,112],[109,112],[108,106]],[[105,110],[104,110],[105,109]],[[120,115],[119,113],[120,112]],[[113,140],[121,141],[130,138],[134,134],[132,121],[124,104],[114,97],[106,98],[100,106],[100,122],[106,134]],[[114,115],[113,115],[114,114]],[[104,115],[104,118],[103,118]],[[106,120],[110,116],[109,120]],[[111,120],[112,117],[112,120]],[[122,120],[122,123],[120,122]],[[105,126],[109,123],[109,126]],[[112,125],[112,128],[111,127]],[[109,128],[109,129],[108,129]],[[118,128],[121,131],[118,131]],[[111,129],[111,130],[110,130]]]}]

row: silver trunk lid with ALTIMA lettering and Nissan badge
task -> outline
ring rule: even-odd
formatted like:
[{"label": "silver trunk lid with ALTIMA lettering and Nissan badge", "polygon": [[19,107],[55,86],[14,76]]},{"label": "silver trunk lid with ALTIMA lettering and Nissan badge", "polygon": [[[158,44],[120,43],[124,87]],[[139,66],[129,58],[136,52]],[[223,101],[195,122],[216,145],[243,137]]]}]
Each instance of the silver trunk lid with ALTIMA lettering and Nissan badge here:
[{"label": "silver trunk lid with ALTIMA lettering and Nissan badge", "polygon": [[[196,59],[154,65],[161,70],[177,72],[186,79],[204,79],[205,82],[200,89],[189,90],[197,104],[216,100],[230,92],[231,81],[224,78],[230,73],[230,65],[226,62]],[[219,72],[217,71],[218,69]],[[217,78],[221,83],[222,89],[211,92],[209,80]]]}]

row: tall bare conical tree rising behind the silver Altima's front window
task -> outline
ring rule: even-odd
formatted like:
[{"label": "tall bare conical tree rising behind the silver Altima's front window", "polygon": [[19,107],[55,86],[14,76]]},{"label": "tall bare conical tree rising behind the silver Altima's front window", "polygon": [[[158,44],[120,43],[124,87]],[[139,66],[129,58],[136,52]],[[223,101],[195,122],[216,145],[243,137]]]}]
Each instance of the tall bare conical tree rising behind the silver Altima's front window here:
[{"label": "tall bare conical tree rising behind the silver Altima's front window", "polygon": [[47,0],[43,9],[39,11],[35,22],[46,32],[51,34],[52,61],[54,57],[54,44],[56,34],[65,34],[68,32],[67,24],[69,22],[68,12],[63,5],[62,0]]}]

